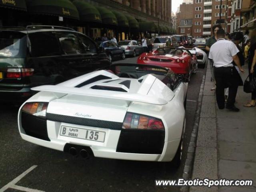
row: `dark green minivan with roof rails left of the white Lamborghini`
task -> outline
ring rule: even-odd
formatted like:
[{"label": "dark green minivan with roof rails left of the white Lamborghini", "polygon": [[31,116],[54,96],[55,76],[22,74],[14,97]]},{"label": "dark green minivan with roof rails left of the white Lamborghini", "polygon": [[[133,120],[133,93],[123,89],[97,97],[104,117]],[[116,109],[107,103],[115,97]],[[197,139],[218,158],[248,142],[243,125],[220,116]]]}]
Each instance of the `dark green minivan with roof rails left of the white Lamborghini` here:
[{"label": "dark green minivan with roof rails left of the white Lamborghini", "polygon": [[109,66],[88,36],[70,28],[0,28],[0,101],[23,101],[31,87],[58,84]]}]

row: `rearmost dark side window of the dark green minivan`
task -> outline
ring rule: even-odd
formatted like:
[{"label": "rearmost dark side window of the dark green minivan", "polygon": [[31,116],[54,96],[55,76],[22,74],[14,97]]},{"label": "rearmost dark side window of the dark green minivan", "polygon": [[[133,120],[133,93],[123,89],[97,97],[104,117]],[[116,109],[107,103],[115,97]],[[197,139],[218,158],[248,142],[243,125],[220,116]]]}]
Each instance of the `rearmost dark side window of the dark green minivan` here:
[{"label": "rearmost dark side window of the dark green minivan", "polygon": [[53,32],[35,32],[28,35],[31,57],[60,55],[58,39]]}]

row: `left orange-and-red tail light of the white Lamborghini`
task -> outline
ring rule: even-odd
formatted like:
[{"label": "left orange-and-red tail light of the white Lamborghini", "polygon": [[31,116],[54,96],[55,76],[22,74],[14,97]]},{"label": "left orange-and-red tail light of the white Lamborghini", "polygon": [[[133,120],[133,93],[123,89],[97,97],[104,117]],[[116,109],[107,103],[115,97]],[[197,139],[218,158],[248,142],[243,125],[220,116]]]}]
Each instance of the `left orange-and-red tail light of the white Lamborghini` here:
[{"label": "left orange-and-red tail light of the white Lamborghini", "polygon": [[34,116],[46,116],[47,102],[28,102],[22,107],[22,111]]}]

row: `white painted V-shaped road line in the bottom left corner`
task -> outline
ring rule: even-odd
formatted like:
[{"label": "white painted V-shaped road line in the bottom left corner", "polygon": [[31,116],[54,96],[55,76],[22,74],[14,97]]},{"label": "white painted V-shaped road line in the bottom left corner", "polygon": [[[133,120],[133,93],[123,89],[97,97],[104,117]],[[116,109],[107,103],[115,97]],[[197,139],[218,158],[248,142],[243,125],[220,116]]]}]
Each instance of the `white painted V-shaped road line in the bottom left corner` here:
[{"label": "white painted V-shaped road line in the bottom left corner", "polygon": [[10,183],[8,183],[7,185],[3,186],[0,189],[0,192],[4,192],[5,190],[7,190],[8,188],[13,188],[13,189],[17,189],[20,191],[26,191],[26,192],[44,192],[44,191],[40,191],[37,189],[30,189],[30,188],[26,188],[26,187],[22,187],[22,186],[18,186],[16,185],[16,183],[18,181],[20,181],[24,176],[26,176],[26,174],[28,174],[29,172],[31,172],[34,168],[36,168],[37,165],[33,165],[32,167],[30,167],[28,170],[26,170],[25,172],[23,172],[22,174],[20,174],[18,177],[16,177],[14,180],[12,180]]}]

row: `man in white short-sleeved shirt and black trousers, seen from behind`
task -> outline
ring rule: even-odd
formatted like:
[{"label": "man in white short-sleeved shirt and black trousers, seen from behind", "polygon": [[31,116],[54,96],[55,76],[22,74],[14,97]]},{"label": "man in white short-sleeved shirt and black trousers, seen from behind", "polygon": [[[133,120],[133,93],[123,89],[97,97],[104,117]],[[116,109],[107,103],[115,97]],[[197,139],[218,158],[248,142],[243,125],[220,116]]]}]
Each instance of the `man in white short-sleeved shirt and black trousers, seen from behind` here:
[{"label": "man in white short-sleeved shirt and black trousers, seen from behind", "polygon": [[239,50],[233,42],[225,40],[225,31],[223,29],[218,30],[217,37],[218,41],[211,46],[208,57],[214,62],[217,104],[219,109],[224,109],[224,89],[228,87],[229,94],[226,108],[238,112],[239,109],[234,106],[234,102],[241,77],[232,62],[234,60],[239,70],[244,73],[237,56]]}]

